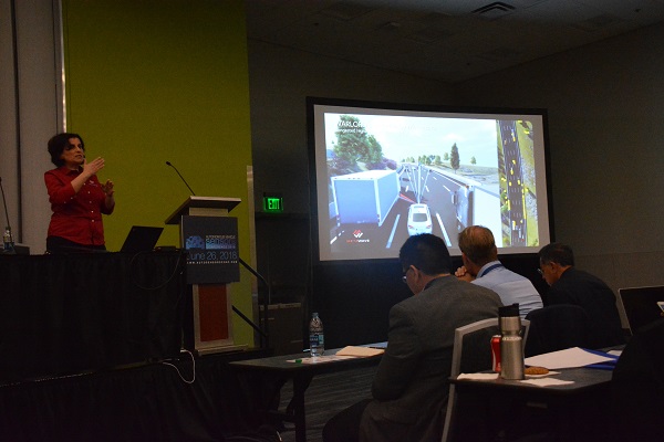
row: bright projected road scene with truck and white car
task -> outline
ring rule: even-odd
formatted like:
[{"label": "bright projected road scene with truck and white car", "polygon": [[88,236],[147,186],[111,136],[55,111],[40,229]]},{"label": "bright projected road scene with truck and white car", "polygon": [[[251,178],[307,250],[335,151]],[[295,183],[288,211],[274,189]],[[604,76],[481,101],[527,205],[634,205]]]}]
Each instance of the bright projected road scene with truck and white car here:
[{"label": "bright projected road scene with truck and white car", "polygon": [[318,188],[321,256],[394,257],[421,233],[455,249],[458,232],[471,224],[490,229],[499,246],[538,245],[531,120],[321,116],[317,177],[328,183]]}]

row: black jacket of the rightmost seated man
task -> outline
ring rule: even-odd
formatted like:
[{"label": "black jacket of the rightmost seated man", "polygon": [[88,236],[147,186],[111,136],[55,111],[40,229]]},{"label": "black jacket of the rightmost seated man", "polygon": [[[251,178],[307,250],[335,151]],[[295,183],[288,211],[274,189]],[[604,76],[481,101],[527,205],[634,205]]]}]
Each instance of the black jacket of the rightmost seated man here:
[{"label": "black jacket of the rightmost seated man", "polygon": [[615,295],[599,277],[574,267],[568,269],[549,288],[548,302],[550,305],[573,304],[585,311],[591,348],[625,343]]}]

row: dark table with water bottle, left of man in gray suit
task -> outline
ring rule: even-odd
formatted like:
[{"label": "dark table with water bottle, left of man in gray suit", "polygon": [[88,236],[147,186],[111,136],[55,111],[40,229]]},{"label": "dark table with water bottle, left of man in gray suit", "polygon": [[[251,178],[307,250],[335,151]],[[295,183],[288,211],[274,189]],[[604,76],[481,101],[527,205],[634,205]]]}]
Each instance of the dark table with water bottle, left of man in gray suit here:
[{"label": "dark table with water bottle, left of man in gray suit", "polygon": [[[384,345],[384,344],[383,344]],[[374,347],[380,345],[367,345]],[[309,352],[268,358],[237,360],[230,362],[236,369],[242,387],[250,391],[249,396],[255,407],[268,417],[274,417],[281,422],[290,422],[295,428],[295,441],[307,441],[307,412],[304,392],[312,379],[318,375],[351,370],[354,368],[377,365],[381,356],[338,358],[341,350],[325,349],[325,355],[312,358]],[[279,394],[286,382],[292,380],[292,399],[286,410],[280,411]]]}]

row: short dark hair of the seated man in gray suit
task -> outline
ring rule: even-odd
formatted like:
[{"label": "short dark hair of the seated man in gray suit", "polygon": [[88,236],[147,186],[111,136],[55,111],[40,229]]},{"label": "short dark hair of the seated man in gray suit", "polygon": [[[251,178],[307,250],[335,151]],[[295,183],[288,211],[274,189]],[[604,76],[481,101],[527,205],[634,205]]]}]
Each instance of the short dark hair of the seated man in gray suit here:
[{"label": "short dark hair of the seated man in gray suit", "polygon": [[430,233],[413,235],[398,252],[402,269],[411,265],[427,275],[450,273],[452,257],[443,239]]}]

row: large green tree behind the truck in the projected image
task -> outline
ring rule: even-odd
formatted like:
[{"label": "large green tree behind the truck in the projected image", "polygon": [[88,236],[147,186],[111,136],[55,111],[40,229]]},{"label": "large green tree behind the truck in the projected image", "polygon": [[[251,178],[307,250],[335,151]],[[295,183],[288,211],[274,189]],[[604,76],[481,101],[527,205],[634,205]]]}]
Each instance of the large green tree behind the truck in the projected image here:
[{"label": "large green tree behind the truck in the projected image", "polygon": [[351,115],[339,117],[339,127],[334,133],[336,145],[334,154],[350,165],[362,162],[380,162],[383,148],[373,135],[369,135],[360,118]]}]

